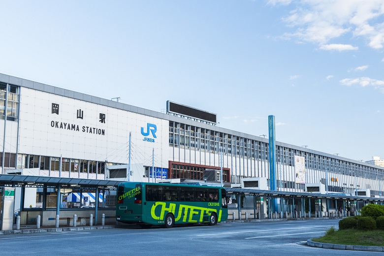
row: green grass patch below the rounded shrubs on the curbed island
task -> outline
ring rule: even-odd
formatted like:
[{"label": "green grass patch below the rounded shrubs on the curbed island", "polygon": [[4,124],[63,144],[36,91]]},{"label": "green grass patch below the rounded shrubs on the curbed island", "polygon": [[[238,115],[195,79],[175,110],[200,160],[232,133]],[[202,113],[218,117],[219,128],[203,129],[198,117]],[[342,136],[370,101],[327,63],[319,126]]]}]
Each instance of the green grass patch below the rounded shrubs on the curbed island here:
[{"label": "green grass patch below the rounded shrubs on the curbed island", "polygon": [[[330,228],[331,229],[331,228]],[[384,246],[384,230],[326,230],[323,237],[313,238],[312,241],[328,244]]]}]

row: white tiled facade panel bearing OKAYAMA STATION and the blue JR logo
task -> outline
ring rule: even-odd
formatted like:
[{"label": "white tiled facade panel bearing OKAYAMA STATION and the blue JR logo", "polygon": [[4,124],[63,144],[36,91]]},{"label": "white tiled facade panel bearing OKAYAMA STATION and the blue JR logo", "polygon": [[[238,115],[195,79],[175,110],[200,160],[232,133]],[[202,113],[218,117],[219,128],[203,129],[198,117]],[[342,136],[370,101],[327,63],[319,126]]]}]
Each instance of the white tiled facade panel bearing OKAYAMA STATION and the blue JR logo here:
[{"label": "white tiled facade panel bearing OKAYAMA STATION and the blue JR logo", "polygon": [[[19,152],[125,163],[131,132],[132,146],[140,151],[136,161],[144,163],[154,148],[156,166],[168,166],[169,152],[161,150],[168,146],[166,120],[27,88],[22,99],[26,101],[20,102]],[[52,113],[52,103],[59,105],[59,114]],[[105,123],[100,122],[100,114],[105,114]],[[13,129],[7,137],[16,139],[17,123],[7,122],[7,127]]]}]

